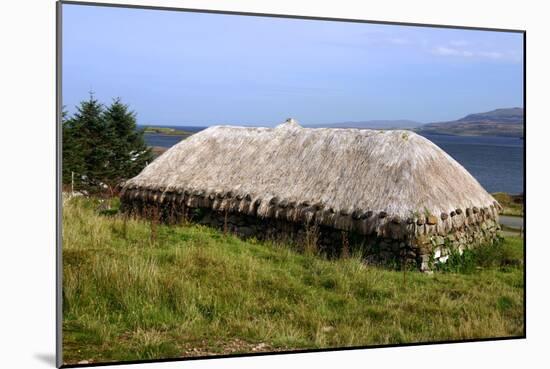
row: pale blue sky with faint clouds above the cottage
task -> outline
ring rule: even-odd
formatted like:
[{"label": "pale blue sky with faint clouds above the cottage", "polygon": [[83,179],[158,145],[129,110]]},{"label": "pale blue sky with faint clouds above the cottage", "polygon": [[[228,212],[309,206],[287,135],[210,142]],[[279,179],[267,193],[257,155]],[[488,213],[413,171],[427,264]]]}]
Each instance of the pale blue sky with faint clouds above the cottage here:
[{"label": "pale blue sky with faint clouds above the cottage", "polygon": [[63,5],[63,104],[138,124],[447,121],[523,105],[523,35]]}]

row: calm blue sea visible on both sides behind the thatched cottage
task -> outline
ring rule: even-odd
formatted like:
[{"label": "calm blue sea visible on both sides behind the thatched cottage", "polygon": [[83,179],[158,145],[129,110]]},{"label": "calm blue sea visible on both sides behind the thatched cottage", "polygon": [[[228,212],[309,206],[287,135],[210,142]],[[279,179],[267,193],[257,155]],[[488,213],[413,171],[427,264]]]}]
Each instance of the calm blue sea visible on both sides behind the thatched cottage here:
[{"label": "calm blue sea visible on both sides behind the thatched cottage", "polygon": [[[190,132],[206,127],[173,126]],[[462,164],[489,192],[523,193],[524,141],[512,137],[424,135]],[[171,147],[181,137],[145,135],[149,146]]]}]

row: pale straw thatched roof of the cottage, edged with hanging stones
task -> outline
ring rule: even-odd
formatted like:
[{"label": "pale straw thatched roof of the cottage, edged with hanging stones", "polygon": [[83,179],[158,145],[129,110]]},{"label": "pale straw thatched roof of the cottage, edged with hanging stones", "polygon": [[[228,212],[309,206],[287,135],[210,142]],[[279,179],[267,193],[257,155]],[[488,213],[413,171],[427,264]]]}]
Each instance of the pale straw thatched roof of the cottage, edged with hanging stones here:
[{"label": "pale straw thatched roof of the cottage, edged with hanging stones", "polygon": [[391,227],[445,233],[495,219],[499,207],[466,169],[413,132],[302,128],[293,120],[201,131],[130,179],[122,197],[379,235]]}]

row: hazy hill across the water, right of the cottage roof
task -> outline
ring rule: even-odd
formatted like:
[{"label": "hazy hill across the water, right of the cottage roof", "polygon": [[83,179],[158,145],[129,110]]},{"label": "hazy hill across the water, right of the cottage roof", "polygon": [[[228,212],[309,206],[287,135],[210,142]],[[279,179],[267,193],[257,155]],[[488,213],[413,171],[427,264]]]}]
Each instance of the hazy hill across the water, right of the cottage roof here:
[{"label": "hazy hill across the water, right of the cottage roof", "polygon": [[523,122],[523,108],[496,109],[469,114],[450,122],[428,123],[417,127],[416,131],[460,136],[523,137]]}]

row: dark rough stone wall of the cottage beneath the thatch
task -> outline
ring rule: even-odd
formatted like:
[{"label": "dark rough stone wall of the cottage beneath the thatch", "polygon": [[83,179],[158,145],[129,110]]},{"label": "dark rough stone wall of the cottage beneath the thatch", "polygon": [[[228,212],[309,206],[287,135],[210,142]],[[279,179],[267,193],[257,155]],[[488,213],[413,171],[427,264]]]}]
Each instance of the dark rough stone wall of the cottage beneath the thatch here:
[{"label": "dark rough stone wall of the cottage beneath the thatch", "polygon": [[462,254],[466,249],[490,244],[500,230],[497,221],[486,219],[447,234],[417,235],[412,239],[397,240],[210,209],[201,209],[199,213],[194,219],[199,224],[243,238],[291,243],[328,257],[360,253],[367,264],[401,267],[405,263],[421,271],[430,271],[436,263],[446,262],[453,252]]}]

